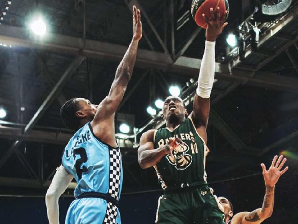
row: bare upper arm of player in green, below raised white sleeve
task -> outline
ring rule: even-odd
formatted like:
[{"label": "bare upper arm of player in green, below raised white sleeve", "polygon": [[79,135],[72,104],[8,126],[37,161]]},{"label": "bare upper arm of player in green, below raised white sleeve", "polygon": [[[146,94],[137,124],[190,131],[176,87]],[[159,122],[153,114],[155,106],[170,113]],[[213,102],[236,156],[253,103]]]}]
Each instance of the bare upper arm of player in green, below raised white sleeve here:
[{"label": "bare upper arm of player in green, below raised white sleeve", "polygon": [[210,112],[210,98],[202,98],[195,94],[193,101],[193,112],[192,117],[194,122],[200,126],[203,125],[207,127],[208,116]]}]

